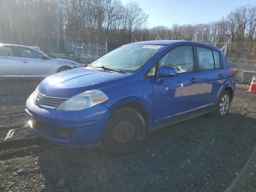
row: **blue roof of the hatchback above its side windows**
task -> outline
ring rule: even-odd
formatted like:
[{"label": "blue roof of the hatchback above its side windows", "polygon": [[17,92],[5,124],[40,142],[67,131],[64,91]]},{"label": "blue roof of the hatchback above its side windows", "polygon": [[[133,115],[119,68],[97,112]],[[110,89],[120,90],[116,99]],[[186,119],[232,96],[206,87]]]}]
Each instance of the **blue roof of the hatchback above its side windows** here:
[{"label": "blue roof of the hatchback above its side windows", "polygon": [[211,49],[215,49],[215,50],[221,51],[220,48],[215,47],[215,46],[212,46],[212,45],[209,45],[209,44],[200,43],[200,42],[196,42],[196,41],[182,41],[182,40],[153,40],[153,41],[140,41],[140,42],[130,43],[129,45],[141,45],[141,44],[152,44],[152,45],[193,44],[193,45],[204,46],[204,47],[208,47],[208,48],[211,48]]}]

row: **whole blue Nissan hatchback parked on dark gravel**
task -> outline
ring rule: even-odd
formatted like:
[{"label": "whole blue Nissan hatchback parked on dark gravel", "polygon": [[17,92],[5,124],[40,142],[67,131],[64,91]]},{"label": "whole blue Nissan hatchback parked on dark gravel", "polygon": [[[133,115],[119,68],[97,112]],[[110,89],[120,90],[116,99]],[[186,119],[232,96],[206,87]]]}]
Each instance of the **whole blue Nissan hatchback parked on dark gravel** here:
[{"label": "whole blue Nissan hatchback parked on dark gravel", "polygon": [[51,142],[102,144],[111,154],[127,154],[147,132],[210,112],[224,118],[234,76],[219,48],[136,42],[45,78],[26,101],[25,114],[34,132]]}]

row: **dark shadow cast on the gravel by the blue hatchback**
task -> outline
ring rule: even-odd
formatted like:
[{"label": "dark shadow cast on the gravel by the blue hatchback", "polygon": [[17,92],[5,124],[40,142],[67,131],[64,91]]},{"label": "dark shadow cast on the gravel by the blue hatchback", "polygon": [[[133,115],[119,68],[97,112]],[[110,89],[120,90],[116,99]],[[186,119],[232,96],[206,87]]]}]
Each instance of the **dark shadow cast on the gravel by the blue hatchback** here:
[{"label": "dark shadow cast on the gravel by the blue hatchback", "polygon": [[144,148],[54,147],[39,155],[42,191],[224,191],[256,146],[256,119],[200,116],[148,134]]}]

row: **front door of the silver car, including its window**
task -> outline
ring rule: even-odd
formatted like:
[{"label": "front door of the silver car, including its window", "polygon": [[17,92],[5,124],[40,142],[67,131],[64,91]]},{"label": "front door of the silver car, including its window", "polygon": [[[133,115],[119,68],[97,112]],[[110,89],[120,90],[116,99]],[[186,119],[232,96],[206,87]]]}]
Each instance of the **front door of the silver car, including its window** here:
[{"label": "front door of the silver car, including its window", "polygon": [[53,63],[48,57],[27,47],[17,47],[20,54],[21,76],[46,77],[53,74]]}]

